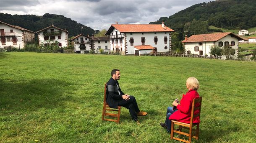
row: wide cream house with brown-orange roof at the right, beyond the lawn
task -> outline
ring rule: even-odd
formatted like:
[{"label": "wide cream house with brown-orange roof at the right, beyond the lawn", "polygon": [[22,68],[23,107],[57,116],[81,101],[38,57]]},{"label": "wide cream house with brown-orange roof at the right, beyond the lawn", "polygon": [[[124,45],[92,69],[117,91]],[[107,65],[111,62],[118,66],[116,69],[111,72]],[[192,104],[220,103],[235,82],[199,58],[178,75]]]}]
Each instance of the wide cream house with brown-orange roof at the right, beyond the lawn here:
[{"label": "wide cream house with brown-orange roof at the right, beyond the lawn", "polygon": [[186,54],[208,56],[213,46],[222,48],[224,48],[224,46],[231,46],[233,49],[236,49],[235,54],[237,54],[239,40],[243,40],[243,38],[231,32],[225,32],[192,35],[190,37],[185,36],[185,40],[183,40],[182,43],[185,45]]}]

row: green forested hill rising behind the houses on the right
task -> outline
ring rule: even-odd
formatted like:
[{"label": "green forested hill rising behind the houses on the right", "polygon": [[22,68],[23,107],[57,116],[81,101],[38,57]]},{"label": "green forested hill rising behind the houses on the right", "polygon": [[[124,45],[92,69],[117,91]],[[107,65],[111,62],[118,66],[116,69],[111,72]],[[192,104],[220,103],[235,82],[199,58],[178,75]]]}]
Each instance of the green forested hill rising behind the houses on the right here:
[{"label": "green forested hill rising behind the houses on the right", "polygon": [[[174,29],[179,36],[184,31],[191,34],[210,32],[206,30],[194,30],[189,28],[191,24],[195,27],[204,28],[206,23],[209,26],[216,26],[225,29],[248,29],[256,27],[256,0],[220,0],[209,3],[199,3],[185,10],[181,10],[169,18],[162,17],[150,24],[165,25]],[[200,26],[196,26],[200,23]],[[201,32],[201,33],[200,33]]]}]

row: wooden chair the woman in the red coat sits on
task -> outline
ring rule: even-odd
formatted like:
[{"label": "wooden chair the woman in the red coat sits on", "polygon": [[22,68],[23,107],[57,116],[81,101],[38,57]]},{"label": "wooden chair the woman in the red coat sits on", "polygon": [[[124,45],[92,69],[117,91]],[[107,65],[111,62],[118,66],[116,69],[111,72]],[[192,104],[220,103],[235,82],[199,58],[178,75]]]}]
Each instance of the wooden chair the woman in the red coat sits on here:
[{"label": "wooden chair the woman in the red coat sits on", "polygon": [[[196,103],[200,103],[199,107],[195,107]],[[196,140],[199,139],[199,123],[193,123],[193,118],[195,117],[200,117],[200,113],[201,113],[201,104],[202,103],[202,97],[198,98],[198,99],[194,99],[192,102],[192,109],[191,109],[191,119],[190,119],[190,123],[182,123],[182,122],[178,122],[175,120],[171,121],[171,139],[175,139],[175,140],[179,140],[179,141],[183,141],[185,143],[191,143],[192,138],[195,138]],[[199,110],[199,113],[194,114],[194,111]],[[179,128],[174,130],[174,125],[179,125]],[[196,126],[196,129],[193,129],[193,127]],[[185,133],[182,132],[182,129],[188,129],[189,133]],[[192,134],[192,131],[194,132],[194,134]],[[186,135],[188,136],[188,140],[183,140],[180,138],[175,138],[173,137],[174,133],[178,133],[179,135]]]}]

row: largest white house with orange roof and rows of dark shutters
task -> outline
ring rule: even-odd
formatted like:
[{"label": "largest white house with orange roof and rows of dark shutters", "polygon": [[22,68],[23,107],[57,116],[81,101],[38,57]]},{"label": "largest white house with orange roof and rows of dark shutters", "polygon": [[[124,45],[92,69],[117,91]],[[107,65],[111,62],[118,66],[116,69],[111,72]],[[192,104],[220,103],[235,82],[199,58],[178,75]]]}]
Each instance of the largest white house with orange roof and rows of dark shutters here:
[{"label": "largest white house with orange roof and rows of dark shutters", "polygon": [[122,55],[169,52],[171,28],[161,24],[112,24],[105,35],[110,37],[111,51]]}]

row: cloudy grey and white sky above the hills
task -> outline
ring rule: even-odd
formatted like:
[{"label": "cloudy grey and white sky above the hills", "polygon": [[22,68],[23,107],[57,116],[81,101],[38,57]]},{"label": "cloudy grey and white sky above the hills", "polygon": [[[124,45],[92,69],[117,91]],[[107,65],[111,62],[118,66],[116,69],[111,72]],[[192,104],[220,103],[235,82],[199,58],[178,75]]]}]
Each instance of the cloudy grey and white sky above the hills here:
[{"label": "cloudy grey and white sky above the hills", "polygon": [[0,0],[0,13],[59,14],[91,28],[111,24],[148,24],[191,5],[214,0]]}]

